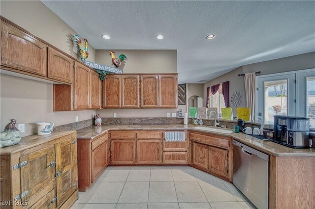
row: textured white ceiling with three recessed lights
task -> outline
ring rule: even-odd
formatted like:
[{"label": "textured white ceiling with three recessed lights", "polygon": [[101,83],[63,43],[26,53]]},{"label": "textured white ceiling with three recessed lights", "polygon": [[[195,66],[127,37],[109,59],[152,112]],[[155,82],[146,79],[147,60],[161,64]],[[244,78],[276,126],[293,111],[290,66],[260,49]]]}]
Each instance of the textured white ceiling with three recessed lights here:
[{"label": "textured white ceiling with three recessed lights", "polygon": [[43,2],[95,49],[177,50],[179,83],[315,51],[315,1]]}]

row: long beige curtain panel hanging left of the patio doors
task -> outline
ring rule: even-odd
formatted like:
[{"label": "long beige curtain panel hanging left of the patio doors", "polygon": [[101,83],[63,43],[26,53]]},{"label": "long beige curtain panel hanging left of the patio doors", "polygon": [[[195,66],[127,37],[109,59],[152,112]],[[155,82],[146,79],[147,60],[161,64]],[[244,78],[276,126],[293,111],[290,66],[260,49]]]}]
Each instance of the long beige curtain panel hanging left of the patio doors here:
[{"label": "long beige curtain panel hanging left of the patio doors", "polygon": [[252,119],[254,119],[255,81],[256,81],[255,73],[245,74],[244,82],[245,82],[246,106],[251,108]]}]

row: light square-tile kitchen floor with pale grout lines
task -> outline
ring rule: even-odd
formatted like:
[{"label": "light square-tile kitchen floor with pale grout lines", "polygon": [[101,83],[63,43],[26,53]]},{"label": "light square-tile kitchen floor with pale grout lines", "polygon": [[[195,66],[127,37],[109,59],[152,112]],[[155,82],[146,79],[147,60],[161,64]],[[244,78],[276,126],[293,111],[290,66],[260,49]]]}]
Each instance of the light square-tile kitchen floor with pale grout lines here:
[{"label": "light square-tile kitchen floor with pale grout lines", "polygon": [[107,167],[72,209],[253,209],[231,183],[189,166]]}]

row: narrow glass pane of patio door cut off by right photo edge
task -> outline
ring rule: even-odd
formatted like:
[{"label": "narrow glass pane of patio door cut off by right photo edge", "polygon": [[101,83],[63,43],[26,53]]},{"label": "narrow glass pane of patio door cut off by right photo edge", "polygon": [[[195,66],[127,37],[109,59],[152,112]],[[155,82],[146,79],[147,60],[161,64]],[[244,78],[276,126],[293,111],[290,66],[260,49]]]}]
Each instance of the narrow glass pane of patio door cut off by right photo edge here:
[{"label": "narrow glass pane of patio door cut off by right photo edge", "polygon": [[310,126],[315,128],[315,76],[307,77],[307,117],[310,118]]}]

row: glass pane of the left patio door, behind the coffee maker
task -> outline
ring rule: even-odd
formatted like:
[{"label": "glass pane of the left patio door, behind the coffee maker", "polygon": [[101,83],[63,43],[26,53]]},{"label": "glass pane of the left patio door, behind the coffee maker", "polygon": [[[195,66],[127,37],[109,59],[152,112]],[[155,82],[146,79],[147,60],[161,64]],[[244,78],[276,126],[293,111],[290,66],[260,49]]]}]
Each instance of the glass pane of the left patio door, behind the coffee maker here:
[{"label": "glass pane of the left patio door, behind the coffee maker", "polygon": [[265,121],[274,121],[274,115],[287,115],[287,80],[264,81]]}]

